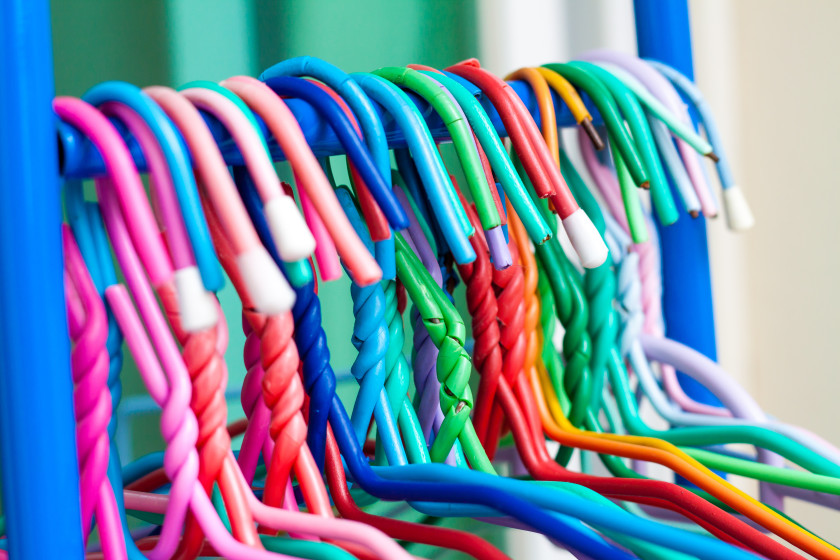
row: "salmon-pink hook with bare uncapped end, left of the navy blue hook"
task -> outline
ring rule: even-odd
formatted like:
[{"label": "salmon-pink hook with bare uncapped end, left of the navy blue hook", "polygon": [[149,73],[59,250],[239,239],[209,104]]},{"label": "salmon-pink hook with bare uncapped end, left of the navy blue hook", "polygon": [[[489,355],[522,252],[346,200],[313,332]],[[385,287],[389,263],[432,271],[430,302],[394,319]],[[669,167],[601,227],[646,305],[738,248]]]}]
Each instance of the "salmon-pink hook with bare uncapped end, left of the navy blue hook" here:
[{"label": "salmon-pink hook with bare uncapped end, left of the navy blue hook", "polygon": [[382,277],[379,267],[341,212],[329,180],[308,148],[300,125],[283,100],[265,84],[253,78],[237,76],[225,80],[222,85],[241,97],[253,111],[263,117],[295,170],[296,176],[305,179],[298,188],[300,192],[307,192],[310,202],[321,216],[336,249],[348,263],[356,281],[365,285],[378,281]]}]

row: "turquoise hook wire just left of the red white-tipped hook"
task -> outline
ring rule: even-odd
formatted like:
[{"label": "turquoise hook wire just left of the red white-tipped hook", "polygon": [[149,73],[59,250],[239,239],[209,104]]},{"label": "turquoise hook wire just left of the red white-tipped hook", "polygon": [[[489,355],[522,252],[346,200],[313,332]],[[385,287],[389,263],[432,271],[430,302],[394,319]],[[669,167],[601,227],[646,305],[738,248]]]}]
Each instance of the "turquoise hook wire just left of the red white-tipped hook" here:
[{"label": "turquoise hook wire just left of the red white-tipped hook", "polygon": [[[428,72],[423,73],[428,74]],[[459,76],[456,77],[463,80]],[[434,78],[449,90],[464,110],[464,114],[470,126],[472,126],[473,132],[487,154],[493,172],[504,189],[505,197],[511,200],[514,208],[523,216],[523,221],[533,242],[542,243],[546,237],[551,235],[551,230],[548,228],[542,215],[537,211],[533,202],[531,202],[524,185],[522,185],[522,181],[519,179],[519,175],[516,173],[510,161],[510,157],[504,149],[504,145],[499,139],[499,135],[490,123],[490,118],[487,116],[481,103],[478,102],[466,87],[456,79],[450,77],[449,74],[435,73]]]}]

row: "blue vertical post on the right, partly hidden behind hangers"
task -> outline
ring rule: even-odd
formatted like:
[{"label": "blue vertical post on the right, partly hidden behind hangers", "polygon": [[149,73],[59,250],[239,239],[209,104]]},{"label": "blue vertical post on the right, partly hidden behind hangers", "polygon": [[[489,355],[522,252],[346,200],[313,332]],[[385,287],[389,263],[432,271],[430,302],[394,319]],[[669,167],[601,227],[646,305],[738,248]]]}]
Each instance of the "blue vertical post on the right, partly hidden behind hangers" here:
[{"label": "blue vertical post on the right, partly hidden behind hangers", "polygon": [[[639,56],[673,66],[694,79],[688,0],[635,0],[636,42]],[[673,185],[674,199],[679,200]],[[662,307],[668,337],[682,342],[712,360],[717,359],[715,317],[706,221],[683,214],[662,227],[657,222],[662,247]],[[682,373],[680,384],[699,402],[719,404],[701,384]]]}]

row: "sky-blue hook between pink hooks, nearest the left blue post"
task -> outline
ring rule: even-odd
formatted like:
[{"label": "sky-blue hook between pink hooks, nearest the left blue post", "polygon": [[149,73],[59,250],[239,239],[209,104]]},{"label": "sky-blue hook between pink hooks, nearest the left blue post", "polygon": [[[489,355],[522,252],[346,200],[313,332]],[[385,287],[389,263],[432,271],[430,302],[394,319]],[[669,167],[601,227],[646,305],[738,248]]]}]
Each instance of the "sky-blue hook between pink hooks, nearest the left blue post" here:
[{"label": "sky-blue hook between pink hooks, nearest the left blue post", "polygon": [[196,251],[196,263],[201,271],[204,286],[209,291],[218,291],[224,285],[224,278],[213,245],[207,223],[201,213],[198,191],[189,166],[189,155],[184,142],[166,117],[148,96],[137,87],[124,82],[104,82],[94,86],[83,96],[94,106],[112,101],[136,111],[148,124],[163,149],[168,167],[172,173],[172,183],[178,195],[178,203],[184,216],[184,224],[190,236],[191,245]]}]

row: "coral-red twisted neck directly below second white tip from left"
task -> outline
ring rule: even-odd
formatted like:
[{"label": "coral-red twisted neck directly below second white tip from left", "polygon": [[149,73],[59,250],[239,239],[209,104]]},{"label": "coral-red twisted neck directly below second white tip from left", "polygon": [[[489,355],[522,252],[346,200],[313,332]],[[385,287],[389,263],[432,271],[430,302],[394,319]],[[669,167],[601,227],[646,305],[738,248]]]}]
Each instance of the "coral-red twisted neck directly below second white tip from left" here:
[{"label": "coral-red twisted neck directly below second white tip from left", "polygon": [[[298,374],[297,346],[292,338],[294,321],[290,312],[267,317],[253,310],[244,315],[260,340],[262,396],[271,409],[269,435],[274,451],[265,484],[265,502],[282,505],[292,467],[306,441],[306,422],[301,409],[303,383]],[[250,373],[250,370],[249,370]]]}]

